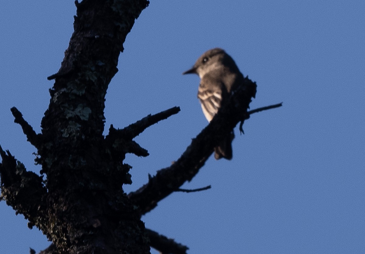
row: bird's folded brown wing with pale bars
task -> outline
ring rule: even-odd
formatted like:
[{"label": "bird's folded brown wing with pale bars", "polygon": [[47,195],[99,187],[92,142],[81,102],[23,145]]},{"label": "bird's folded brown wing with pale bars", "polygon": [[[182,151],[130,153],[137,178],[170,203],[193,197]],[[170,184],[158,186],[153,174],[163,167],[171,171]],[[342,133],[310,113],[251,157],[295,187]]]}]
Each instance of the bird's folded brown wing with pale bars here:
[{"label": "bird's folded brown wing with pale bars", "polygon": [[226,89],[222,82],[212,79],[205,75],[199,84],[198,98],[205,118],[210,122],[218,112],[223,94]]}]

